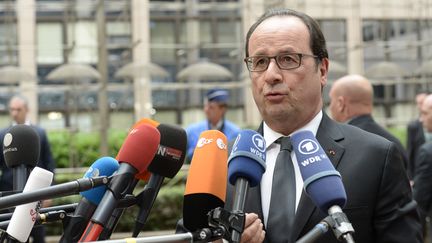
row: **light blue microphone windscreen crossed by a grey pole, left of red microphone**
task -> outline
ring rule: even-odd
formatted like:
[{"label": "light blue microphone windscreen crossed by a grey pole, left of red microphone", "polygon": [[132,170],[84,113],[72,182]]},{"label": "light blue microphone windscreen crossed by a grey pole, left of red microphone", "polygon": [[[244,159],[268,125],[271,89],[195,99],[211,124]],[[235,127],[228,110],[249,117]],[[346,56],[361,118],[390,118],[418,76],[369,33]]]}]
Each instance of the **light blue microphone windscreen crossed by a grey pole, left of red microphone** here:
[{"label": "light blue microphone windscreen crossed by a grey pole, left of red microphone", "polygon": [[[97,159],[84,174],[83,178],[96,176],[111,176],[119,168],[119,163],[112,157],[102,157]],[[94,205],[99,205],[105,194],[106,185],[94,187],[90,190],[80,192],[81,196],[85,197]]]}]

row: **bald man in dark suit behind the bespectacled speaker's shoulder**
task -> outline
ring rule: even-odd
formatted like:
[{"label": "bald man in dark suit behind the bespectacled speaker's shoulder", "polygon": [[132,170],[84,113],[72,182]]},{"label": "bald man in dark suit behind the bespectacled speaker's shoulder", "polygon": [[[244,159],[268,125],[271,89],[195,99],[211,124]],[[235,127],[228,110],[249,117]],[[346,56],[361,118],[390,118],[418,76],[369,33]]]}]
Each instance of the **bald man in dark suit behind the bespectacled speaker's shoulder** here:
[{"label": "bald man in dark suit behind the bespectacled speaker's shoulder", "polygon": [[346,122],[393,142],[408,169],[408,157],[402,143],[372,117],[373,88],[361,75],[347,75],[336,80],[329,92],[329,110],[334,120]]}]

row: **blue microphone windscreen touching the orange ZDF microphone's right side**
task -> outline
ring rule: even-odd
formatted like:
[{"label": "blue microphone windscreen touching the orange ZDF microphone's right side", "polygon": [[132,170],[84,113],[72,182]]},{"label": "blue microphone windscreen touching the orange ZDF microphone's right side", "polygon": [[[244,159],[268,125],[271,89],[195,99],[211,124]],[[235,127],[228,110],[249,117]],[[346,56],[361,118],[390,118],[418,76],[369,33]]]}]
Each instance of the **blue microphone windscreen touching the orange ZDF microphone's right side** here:
[{"label": "blue microphone windscreen touching the orange ZDF microphone's right side", "polygon": [[228,179],[235,185],[237,178],[248,180],[254,187],[261,181],[266,165],[266,145],[261,134],[243,130],[237,136],[228,158]]}]

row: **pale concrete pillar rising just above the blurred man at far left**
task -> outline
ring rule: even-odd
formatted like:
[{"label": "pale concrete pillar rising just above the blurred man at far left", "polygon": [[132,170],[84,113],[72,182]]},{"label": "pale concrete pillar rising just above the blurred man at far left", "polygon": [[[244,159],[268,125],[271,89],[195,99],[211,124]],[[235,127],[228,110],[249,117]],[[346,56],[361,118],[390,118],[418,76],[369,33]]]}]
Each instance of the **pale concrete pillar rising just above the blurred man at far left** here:
[{"label": "pale concrete pillar rising just above the blurred man at far left", "polygon": [[[36,77],[36,3],[35,0],[17,0],[16,4],[19,67]],[[21,80],[20,90],[29,101],[28,118],[37,123],[39,109],[37,80]]]}]

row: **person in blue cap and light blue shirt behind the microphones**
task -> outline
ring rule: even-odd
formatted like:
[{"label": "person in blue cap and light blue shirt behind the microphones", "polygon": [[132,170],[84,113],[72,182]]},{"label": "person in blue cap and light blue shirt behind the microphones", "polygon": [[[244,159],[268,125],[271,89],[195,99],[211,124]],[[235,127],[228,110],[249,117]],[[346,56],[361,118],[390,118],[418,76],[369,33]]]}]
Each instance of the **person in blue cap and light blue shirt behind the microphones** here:
[{"label": "person in blue cap and light blue shirt behind the microphones", "polygon": [[225,118],[228,110],[228,91],[224,89],[209,90],[204,99],[206,120],[191,124],[186,128],[188,136],[187,161],[192,159],[200,134],[206,130],[219,130],[228,141],[236,138],[240,128]]}]

